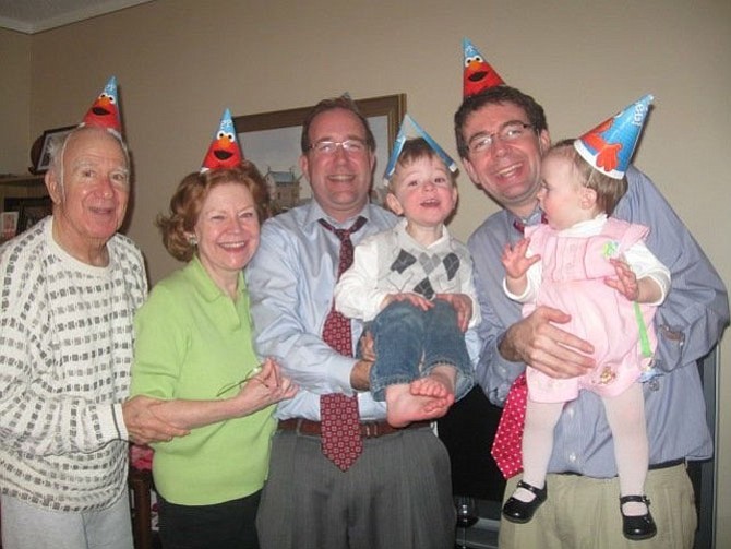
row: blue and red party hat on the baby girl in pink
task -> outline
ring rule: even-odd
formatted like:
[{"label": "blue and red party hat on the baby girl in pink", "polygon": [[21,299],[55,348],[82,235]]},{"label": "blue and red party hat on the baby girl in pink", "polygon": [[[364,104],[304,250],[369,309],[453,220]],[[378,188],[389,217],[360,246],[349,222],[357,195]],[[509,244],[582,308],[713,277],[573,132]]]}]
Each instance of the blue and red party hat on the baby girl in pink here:
[{"label": "blue and red party hat on the baby girl in pink", "polygon": [[649,94],[644,96],[574,141],[574,147],[582,158],[609,177],[622,179],[637,146],[652,99]]}]

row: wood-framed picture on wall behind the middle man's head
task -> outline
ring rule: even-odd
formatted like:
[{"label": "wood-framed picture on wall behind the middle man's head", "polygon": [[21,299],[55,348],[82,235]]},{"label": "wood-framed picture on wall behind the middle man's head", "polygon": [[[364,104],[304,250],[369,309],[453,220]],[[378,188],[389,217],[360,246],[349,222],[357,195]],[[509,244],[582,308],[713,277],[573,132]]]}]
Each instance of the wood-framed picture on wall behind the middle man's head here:
[{"label": "wood-framed picture on wall behind the middle man's head", "polygon": [[[406,112],[406,94],[356,99],[356,105],[368,119],[375,138],[372,199],[382,203],[381,179]],[[310,186],[299,167],[302,122],[310,109],[312,106],[233,118],[243,156],[253,162],[264,176],[274,213],[312,198]]]}]

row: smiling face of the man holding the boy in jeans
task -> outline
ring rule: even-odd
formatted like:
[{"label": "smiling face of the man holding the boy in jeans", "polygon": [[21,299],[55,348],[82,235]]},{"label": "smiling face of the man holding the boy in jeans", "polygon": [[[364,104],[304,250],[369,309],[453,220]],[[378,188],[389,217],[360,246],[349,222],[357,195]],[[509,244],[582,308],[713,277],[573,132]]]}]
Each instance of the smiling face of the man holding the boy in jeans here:
[{"label": "smiling face of the man holding the boy in jeans", "polygon": [[[319,114],[309,129],[310,143],[347,140],[367,142],[366,129],[358,117],[346,109],[334,108]],[[348,152],[337,146],[332,153],[310,150],[300,157],[312,194],[325,213],[345,222],[360,213],[368,203],[375,156],[369,147]]]}]

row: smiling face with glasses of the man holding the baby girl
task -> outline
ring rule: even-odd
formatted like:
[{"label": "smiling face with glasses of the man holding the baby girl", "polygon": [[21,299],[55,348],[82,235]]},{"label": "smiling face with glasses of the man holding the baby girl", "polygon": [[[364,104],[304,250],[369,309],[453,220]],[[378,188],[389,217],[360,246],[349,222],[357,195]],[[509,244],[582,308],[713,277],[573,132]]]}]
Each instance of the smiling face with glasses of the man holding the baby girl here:
[{"label": "smiling face with glasses of the man holding the baby girl", "polygon": [[[467,117],[462,133],[469,145],[481,135],[495,135],[511,122],[529,123],[522,107],[507,102],[488,104]],[[472,182],[499,204],[527,217],[536,206],[541,154],[549,145],[546,130],[529,131],[510,142],[495,138],[487,151],[470,152],[464,166]]]}]

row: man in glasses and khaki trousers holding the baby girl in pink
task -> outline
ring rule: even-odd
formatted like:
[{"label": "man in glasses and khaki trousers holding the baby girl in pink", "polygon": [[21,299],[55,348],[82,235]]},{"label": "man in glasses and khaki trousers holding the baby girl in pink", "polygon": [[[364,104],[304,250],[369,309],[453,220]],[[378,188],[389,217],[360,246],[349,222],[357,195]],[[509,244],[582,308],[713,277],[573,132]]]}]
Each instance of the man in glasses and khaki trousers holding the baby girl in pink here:
[{"label": "man in glasses and khaki trousers holding the baby girl in pink", "polygon": [[[468,240],[482,311],[482,351],[476,379],[502,406],[526,363],[554,378],[579,375],[591,366],[591,346],[561,330],[562,311],[539,307],[525,320],[502,289],[500,256],[541,223],[537,192],[541,155],[550,146],[543,109],[532,97],[498,86],[465,98],[454,117],[457,150],[472,182],[503,210]],[[726,288],[712,265],[655,184],[630,167],[628,190],[614,215],[650,227],[648,248],[671,271],[672,286],[659,307],[655,367],[644,384],[650,464],[647,494],[658,535],[643,547],[693,546],[693,487],[685,462],[712,452],[696,360],[718,342],[729,322]],[[502,548],[633,547],[622,535],[619,481],[611,432],[601,399],[590,392],[568,403],[554,433],[548,500],[527,524],[502,521]],[[508,480],[513,493],[519,475]]]}]

